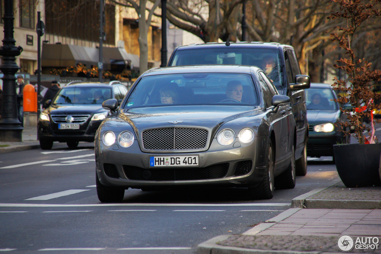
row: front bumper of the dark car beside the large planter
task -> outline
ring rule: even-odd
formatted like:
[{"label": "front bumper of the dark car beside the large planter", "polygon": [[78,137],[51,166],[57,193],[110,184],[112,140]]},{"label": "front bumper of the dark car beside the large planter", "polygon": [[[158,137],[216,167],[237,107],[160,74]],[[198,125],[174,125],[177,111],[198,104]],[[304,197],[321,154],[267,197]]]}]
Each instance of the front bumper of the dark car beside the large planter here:
[{"label": "front bumper of the dark car beside the large planter", "polygon": [[345,140],[342,132],[309,132],[307,156],[333,156],[333,145],[343,144]]}]

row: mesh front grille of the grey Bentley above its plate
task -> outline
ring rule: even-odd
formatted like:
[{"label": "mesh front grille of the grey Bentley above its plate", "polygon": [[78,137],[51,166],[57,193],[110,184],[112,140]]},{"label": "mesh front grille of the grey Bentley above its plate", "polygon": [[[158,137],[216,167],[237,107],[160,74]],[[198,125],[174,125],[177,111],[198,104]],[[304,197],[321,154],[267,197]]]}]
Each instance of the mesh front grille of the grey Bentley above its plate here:
[{"label": "mesh front grille of the grey Bentley above its plate", "polygon": [[208,130],[199,128],[170,127],[142,132],[146,150],[190,150],[207,146]]}]

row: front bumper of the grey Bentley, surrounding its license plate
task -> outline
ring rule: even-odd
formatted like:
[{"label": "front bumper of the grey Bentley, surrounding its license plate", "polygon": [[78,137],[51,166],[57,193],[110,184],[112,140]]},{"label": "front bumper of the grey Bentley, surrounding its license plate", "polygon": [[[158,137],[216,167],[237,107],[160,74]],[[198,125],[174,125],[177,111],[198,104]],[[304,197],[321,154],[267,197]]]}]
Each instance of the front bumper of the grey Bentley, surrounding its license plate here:
[{"label": "front bumper of the grey Bentley, surrounding its license plate", "polygon": [[[237,141],[236,141],[237,142]],[[240,147],[213,139],[203,152],[143,153],[135,140],[128,148],[95,140],[96,172],[103,185],[122,188],[219,185],[253,186],[263,179],[269,137],[256,137]],[[235,142],[234,142],[235,144]],[[237,145],[235,145],[237,146]],[[150,156],[199,155],[199,167],[150,167]]]}]

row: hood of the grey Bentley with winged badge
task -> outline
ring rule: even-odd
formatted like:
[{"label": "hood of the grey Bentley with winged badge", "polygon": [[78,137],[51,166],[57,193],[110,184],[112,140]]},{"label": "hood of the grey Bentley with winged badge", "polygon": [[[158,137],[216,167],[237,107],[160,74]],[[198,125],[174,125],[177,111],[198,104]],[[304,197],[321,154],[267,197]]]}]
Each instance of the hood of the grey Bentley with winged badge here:
[{"label": "hood of the grey Bentley with winged badge", "polygon": [[134,128],[148,129],[168,125],[205,126],[213,129],[247,114],[260,110],[255,106],[166,106],[152,108],[122,109],[119,117]]}]

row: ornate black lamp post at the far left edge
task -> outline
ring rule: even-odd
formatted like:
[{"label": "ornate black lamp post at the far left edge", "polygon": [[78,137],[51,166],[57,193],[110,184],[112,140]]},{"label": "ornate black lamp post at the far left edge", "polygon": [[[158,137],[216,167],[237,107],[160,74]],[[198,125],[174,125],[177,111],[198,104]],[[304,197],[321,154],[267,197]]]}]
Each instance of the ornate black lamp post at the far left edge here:
[{"label": "ornate black lamp post at the far left edge", "polygon": [[22,141],[22,127],[18,119],[16,95],[16,77],[14,74],[20,69],[16,64],[16,56],[21,54],[22,48],[16,47],[13,37],[13,0],[4,1],[4,39],[0,47],[3,72],[3,99],[0,120],[0,141]]}]

